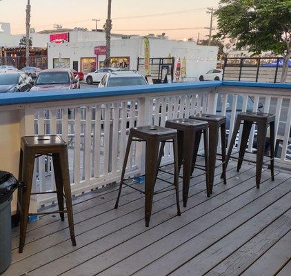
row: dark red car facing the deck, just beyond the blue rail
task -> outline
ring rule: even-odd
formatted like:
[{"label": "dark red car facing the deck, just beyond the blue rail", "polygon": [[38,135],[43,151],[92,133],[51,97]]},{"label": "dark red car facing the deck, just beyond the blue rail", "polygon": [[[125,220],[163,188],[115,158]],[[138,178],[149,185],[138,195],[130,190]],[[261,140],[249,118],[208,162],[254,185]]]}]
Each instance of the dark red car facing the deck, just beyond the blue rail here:
[{"label": "dark red car facing the deck, just beyond the blue rail", "polygon": [[67,68],[46,69],[39,73],[30,91],[71,90],[80,88],[79,77]]}]

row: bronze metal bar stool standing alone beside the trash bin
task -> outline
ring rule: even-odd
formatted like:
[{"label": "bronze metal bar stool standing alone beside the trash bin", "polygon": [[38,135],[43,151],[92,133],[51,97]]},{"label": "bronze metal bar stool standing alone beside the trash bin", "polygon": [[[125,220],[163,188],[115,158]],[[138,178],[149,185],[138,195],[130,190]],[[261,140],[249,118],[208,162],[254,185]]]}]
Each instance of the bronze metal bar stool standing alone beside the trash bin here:
[{"label": "bronze metal bar stool standing alone beside the trash bin", "polygon": [[[34,159],[40,157],[41,155],[52,156],[54,179],[56,182],[57,191],[31,193]],[[72,245],[76,246],[76,239],[74,237],[70,175],[68,168],[68,148],[63,139],[57,135],[21,137],[19,181],[23,183],[23,186],[18,190],[17,202],[17,220],[20,220],[19,253],[22,253],[23,246],[25,244],[29,215],[48,215],[59,213],[61,221],[64,221],[64,214],[67,213]],[[29,214],[30,195],[46,193],[57,193],[59,211]],[[63,197],[66,198],[66,209],[63,206]]]}]

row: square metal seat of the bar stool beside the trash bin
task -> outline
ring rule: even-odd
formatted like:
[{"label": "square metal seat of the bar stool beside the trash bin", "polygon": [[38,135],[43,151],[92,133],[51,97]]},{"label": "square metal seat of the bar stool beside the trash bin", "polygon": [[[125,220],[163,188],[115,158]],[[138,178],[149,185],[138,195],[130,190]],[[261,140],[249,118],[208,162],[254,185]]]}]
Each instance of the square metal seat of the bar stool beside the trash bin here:
[{"label": "square metal seat of the bar stool beside the trash bin", "polygon": [[67,144],[61,137],[57,135],[36,135],[21,137],[21,146],[26,147],[51,147],[51,146],[63,146]]}]

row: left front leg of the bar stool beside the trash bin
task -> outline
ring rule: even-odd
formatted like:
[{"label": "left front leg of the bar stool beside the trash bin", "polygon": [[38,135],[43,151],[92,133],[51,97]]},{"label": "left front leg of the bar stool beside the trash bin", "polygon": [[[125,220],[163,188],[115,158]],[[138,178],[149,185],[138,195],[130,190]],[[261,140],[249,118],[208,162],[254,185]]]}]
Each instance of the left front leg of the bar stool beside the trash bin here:
[{"label": "left front leg of the bar stool beside the trash bin", "polygon": [[34,155],[26,150],[23,152],[23,166],[21,178],[26,185],[21,193],[21,215],[20,215],[20,235],[19,235],[19,253],[23,252],[26,242],[26,229],[28,226],[28,211],[30,206],[30,193],[32,188],[32,177],[34,169]]}]

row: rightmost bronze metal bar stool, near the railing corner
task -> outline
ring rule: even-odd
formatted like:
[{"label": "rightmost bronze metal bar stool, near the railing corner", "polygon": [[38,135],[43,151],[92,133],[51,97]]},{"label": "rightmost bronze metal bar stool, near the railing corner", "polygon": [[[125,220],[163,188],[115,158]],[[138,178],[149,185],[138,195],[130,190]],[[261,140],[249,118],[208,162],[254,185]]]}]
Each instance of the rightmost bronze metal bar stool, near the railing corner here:
[{"label": "rightmost bronze metal bar stool, near the railing corner", "polygon": [[[252,124],[257,124],[257,160],[245,160],[250,161],[252,163],[256,163],[256,185],[257,188],[260,188],[261,183],[261,172],[263,168],[264,152],[265,152],[265,139],[267,136],[268,126],[270,126],[270,170],[272,180],[274,180],[274,126],[275,126],[276,116],[268,113],[262,112],[241,112],[237,115],[237,119],[234,125],[234,130],[232,133],[232,139],[230,141],[230,146],[228,148],[228,155],[226,157],[226,165],[228,165],[228,161],[230,157],[234,159],[238,159],[237,163],[237,171],[239,172],[241,165],[243,164],[243,157],[245,155],[245,148],[248,146],[248,138],[250,136],[250,130],[252,129]],[[239,127],[241,126],[243,121],[243,132],[241,135],[241,146],[239,148],[239,152],[232,153],[232,149],[235,144],[235,140],[237,137],[237,133],[239,132]],[[239,153],[239,157],[233,157]]]}]

